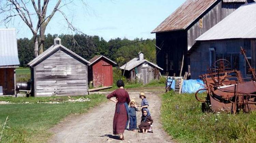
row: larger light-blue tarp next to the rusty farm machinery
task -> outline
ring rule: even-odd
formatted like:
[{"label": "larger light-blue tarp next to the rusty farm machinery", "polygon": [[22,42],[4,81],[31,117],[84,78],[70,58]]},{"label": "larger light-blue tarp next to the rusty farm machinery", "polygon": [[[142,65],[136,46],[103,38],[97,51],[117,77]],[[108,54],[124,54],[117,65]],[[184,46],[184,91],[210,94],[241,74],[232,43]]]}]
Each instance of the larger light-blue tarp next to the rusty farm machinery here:
[{"label": "larger light-blue tarp next to the rusty farm machinery", "polygon": [[195,93],[197,90],[203,89],[203,85],[203,81],[199,79],[183,80],[182,93]]}]

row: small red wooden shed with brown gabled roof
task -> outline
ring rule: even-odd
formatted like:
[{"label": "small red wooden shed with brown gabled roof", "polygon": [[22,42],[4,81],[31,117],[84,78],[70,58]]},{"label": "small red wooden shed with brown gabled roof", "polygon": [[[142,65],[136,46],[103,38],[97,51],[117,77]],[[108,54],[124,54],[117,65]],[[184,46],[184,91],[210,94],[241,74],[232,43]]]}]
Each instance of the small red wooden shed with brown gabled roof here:
[{"label": "small red wooden shed with brown gabled roof", "polygon": [[89,62],[88,80],[93,81],[93,86],[95,88],[111,86],[113,84],[112,68],[116,63],[103,55],[97,55]]}]

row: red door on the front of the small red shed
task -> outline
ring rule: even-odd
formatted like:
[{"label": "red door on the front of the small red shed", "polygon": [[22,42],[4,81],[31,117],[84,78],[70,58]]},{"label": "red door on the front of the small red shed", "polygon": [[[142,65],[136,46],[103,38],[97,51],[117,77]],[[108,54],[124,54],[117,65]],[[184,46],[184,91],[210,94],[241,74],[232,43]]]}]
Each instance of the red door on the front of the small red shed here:
[{"label": "red door on the front of the small red shed", "polygon": [[112,79],[112,66],[111,65],[103,65],[103,86],[111,86],[113,84]]}]

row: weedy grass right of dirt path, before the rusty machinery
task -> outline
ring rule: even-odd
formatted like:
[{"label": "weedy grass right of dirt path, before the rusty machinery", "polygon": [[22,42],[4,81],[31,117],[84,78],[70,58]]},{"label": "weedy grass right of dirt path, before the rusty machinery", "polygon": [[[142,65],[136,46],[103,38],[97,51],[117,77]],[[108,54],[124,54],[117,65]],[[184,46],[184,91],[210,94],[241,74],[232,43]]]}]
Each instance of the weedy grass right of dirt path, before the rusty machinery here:
[{"label": "weedy grass right of dirt path, before the rusty machinery", "polygon": [[161,122],[178,142],[256,142],[256,112],[202,113],[194,94],[163,94]]}]

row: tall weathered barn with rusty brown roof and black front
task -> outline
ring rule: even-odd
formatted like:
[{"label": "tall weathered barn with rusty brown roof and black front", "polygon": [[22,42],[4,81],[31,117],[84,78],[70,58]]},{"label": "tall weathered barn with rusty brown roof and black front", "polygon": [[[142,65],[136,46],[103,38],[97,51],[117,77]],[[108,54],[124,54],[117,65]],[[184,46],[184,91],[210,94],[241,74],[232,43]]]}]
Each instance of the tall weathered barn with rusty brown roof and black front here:
[{"label": "tall weathered barn with rusty brown roof and black front", "polygon": [[188,70],[187,51],[195,39],[245,3],[253,0],[187,0],[152,31],[156,33],[157,64],[163,73],[179,75]]}]

